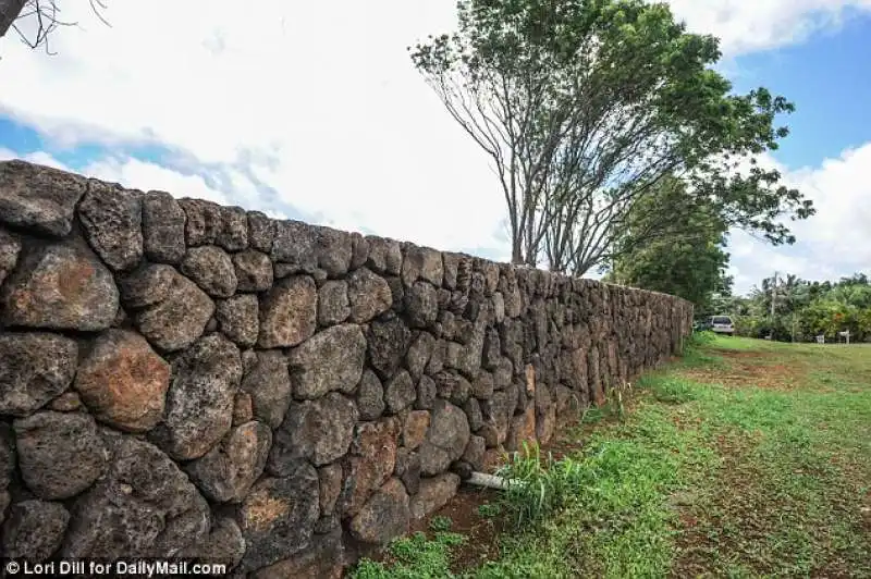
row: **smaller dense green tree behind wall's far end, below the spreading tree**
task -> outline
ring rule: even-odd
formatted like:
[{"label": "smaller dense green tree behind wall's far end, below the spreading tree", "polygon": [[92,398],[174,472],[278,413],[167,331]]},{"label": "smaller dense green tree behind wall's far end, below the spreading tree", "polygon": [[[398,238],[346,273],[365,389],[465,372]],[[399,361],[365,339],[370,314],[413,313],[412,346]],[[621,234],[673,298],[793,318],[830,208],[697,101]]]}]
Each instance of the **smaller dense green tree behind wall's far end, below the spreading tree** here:
[{"label": "smaller dense green tree behind wall's far end, below the spreading tree", "polygon": [[[664,210],[672,213],[660,227],[665,235],[648,238],[647,232],[657,226],[650,221]],[[680,296],[692,301],[700,315],[722,313],[712,313],[712,299],[731,294],[726,231],[711,205],[699,205],[682,181],[664,178],[629,211],[617,242],[618,257],[605,279]]]}]

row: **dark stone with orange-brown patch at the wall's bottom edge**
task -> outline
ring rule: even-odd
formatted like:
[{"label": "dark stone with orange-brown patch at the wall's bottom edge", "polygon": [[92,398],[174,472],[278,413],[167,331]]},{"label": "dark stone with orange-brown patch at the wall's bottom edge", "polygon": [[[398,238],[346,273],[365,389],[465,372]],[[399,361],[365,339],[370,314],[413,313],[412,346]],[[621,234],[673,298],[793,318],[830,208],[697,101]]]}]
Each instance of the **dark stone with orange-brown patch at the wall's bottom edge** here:
[{"label": "dark stone with orange-brown patch at the wall's bottom edge", "polygon": [[272,565],[311,544],[320,512],[318,472],[300,464],[286,477],[258,481],[240,509],[238,520],[247,549],[241,570]]}]

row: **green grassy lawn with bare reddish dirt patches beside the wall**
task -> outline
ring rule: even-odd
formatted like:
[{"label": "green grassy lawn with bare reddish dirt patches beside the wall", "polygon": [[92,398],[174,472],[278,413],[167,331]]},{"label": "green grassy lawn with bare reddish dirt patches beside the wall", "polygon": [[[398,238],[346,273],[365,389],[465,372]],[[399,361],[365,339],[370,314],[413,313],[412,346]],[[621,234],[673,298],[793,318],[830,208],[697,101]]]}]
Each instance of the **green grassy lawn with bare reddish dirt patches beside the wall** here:
[{"label": "green grassy lawn with bare reddish dirt patches beside the wall", "polygon": [[351,576],[871,578],[871,347],[716,338],[629,394],[554,443],[560,509],[480,494],[494,547],[440,516]]}]

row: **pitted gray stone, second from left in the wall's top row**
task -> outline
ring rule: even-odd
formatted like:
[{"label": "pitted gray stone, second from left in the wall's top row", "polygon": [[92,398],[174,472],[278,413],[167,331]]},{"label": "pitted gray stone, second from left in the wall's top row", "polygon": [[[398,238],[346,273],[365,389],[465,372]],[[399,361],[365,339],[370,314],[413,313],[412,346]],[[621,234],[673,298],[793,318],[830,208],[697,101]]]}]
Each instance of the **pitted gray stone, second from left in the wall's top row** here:
[{"label": "pitted gray stone, second from left in the wall's top row", "polygon": [[78,218],[90,246],[114,271],[135,268],[144,255],[139,192],[96,180],[78,204]]}]

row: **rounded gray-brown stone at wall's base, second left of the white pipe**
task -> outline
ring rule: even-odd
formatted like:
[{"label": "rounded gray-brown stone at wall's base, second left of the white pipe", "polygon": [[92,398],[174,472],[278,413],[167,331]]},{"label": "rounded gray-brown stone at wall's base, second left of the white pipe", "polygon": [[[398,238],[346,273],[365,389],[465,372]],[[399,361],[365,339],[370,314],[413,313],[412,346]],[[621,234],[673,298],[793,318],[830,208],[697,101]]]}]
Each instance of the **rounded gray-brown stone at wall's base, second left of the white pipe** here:
[{"label": "rounded gray-brown stone at wall's base, second left of the white pipe", "polygon": [[408,494],[398,479],[390,479],[351,520],[348,530],[364,543],[384,544],[408,531]]}]

